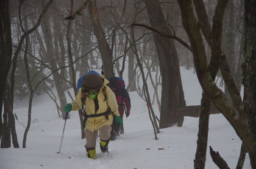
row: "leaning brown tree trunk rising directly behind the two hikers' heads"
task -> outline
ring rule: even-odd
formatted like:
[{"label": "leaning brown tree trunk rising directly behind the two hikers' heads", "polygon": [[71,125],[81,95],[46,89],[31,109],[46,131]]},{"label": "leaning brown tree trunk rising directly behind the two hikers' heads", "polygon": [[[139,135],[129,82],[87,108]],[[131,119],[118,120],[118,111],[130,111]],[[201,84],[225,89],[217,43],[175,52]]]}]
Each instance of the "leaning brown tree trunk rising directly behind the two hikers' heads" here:
[{"label": "leaning brown tree trunk rising directly behind the two hikers' heads", "polygon": [[105,38],[104,30],[102,29],[101,22],[99,20],[99,14],[96,1],[90,1],[88,4],[88,10],[90,13],[91,22],[93,24],[93,33],[97,38],[99,45],[99,52],[101,53],[102,63],[104,65],[105,77],[115,76],[113,72],[113,60],[112,51]]}]

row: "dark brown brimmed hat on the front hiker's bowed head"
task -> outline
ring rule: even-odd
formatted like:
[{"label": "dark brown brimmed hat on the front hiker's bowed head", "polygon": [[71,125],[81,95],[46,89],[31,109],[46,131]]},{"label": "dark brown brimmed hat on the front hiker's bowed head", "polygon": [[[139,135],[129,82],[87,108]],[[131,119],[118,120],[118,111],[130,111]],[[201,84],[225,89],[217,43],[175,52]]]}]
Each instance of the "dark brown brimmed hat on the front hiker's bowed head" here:
[{"label": "dark brown brimmed hat on the front hiker's bowed head", "polygon": [[103,86],[103,78],[96,74],[88,74],[83,77],[82,88],[99,91]]}]

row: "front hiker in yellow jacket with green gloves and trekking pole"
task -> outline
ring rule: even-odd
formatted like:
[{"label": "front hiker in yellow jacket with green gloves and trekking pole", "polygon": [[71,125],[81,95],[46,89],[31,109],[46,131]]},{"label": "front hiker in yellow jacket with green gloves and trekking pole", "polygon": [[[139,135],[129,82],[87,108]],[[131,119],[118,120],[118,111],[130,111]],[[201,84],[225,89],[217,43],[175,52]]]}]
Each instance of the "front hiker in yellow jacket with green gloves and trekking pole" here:
[{"label": "front hiker in yellow jacket with green gloves and trekking pole", "polygon": [[118,126],[122,125],[118,112],[118,104],[113,91],[106,85],[108,80],[97,74],[91,73],[83,77],[82,88],[76,99],[65,106],[65,112],[76,111],[84,108],[85,114],[85,145],[87,156],[95,159],[96,137],[99,130],[102,152],[108,153],[110,131],[112,129],[113,114]]}]

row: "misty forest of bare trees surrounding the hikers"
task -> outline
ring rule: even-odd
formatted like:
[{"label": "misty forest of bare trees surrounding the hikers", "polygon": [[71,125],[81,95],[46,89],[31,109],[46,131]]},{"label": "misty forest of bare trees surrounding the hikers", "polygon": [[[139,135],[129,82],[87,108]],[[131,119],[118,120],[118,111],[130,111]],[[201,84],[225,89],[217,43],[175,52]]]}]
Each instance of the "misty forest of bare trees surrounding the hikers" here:
[{"label": "misty forest of bare trees surrounding the hikers", "polygon": [[[64,122],[78,78],[93,70],[127,77],[127,91],[148,105],[156,140],[161,129],[197,118],[194,168],[205,168],[212,114],[241,139],[236,168],[245,156],[256,168],[256,1],[1,0],[0,8],[1,148],[29,147],[35,96],[48,95]],[[186,105],[180,67],[196,74],[201,105]],[[15,102],[23,98],[27,123],[17,133]],[[229,168],[216,151],[210,160]]]}]

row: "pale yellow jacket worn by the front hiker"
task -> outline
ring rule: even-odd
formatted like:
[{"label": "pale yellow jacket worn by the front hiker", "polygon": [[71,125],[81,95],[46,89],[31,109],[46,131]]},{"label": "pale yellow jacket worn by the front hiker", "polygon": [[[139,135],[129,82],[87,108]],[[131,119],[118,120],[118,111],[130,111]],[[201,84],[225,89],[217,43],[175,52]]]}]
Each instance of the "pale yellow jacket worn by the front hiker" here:
[{"label": "pale yellow jacket worn by the front hiker", "polygon": [[[115,93],[110,89],[106,84],[108,83],[108,80],[104,78],[104,83],[101,88],[101,90],[98,92],[97,98],[99,101],[99,109],[95,113],[95,105],[94,100],[90,97],[86,97],[85,99],[85,109],[84,111],[87,113],[87,115],[90,114],[100,114],[107,111],[107,108],[109,107],[115,116],[120,116],[118,112],[118,104],[116,102],[116,96]],[[106,88],[107,93],[107,100],[105,100],[104,96],[104,87]],[[72,102],[72,111],[77,111],[80,108],[82,108],[82,88],[79,89],[79,93],[76,95],[76,99],[74,102]],[[105,100],[105,101],[104,101]],[[106,102],[107,101],[107,102]],[[113,115],[109,114],[108,119],[106,119],[105,116],[99,116],[99,117],[88,117],[87,122],[85,124],[85,128],[90,130],[91,132],[97,131],[99,128],[101,128],[104,125],[112,125],[113,122]]]}]

